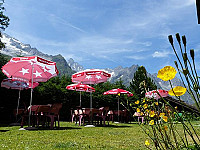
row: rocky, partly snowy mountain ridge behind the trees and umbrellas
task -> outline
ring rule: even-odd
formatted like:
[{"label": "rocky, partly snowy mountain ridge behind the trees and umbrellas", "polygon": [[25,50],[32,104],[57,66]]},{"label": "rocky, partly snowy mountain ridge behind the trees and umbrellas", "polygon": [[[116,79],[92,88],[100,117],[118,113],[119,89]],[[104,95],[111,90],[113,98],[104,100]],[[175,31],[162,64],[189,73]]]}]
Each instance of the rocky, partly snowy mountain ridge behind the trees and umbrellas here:
[{"label": "rocky, partly snowy mountain ridge behind the trees and umbrellas", "polygon": [[[61,55],[48,55],[40,52],[36,48],[32,48],[30,44],[23,44],[19,40],[3,33],[2,42],[5,43],[5,48],[1,50],[3,54],[10,55],[12,57],[16,57],[17,55],[23,55],[23,56],[31,56],[31,55],[37,55],[40,57],[43,57],[45,59],[55,61],[57,63],[57,68],[59,70],[59,75],[72,75],[75,72],[83,71],[84,67],[80,65],[79,63],[75,62],[73,58],[70,58],[68,61],[65,60],[65,58]],[[122,80],[123,84],[126,86],[129,86],[130,82],[133,79],[134,73],[137,71],[139,65],[132,65],[130,67],[123,68],[122,66],[115,67],[114,69],[105,68],[105,70],[108,73],[111,73],[111,78],[109,81],[111,83],[114,83],[115,81]],[[150,77],[154,83],[157,85],[158,89],[163,90],[170,90],[171,86],[168,82],[162,81],[161,79],[157,78],[157,74],[150,74],[147,73],[148,77]],[[181,86],[183,85],[182,82],[178,78],[174,78],[172,80],[173,86]],[[184,99],[187,103],[192,103],[191,97],[189,94],[185,94],[181,98]]]}]

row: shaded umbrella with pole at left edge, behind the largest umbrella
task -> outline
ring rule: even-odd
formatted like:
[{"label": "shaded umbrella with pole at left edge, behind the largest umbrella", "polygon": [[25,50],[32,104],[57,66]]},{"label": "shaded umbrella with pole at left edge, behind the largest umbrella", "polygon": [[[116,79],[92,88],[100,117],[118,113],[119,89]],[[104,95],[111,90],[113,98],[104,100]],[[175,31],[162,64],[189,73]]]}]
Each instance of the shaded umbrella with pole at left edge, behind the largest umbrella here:
[{"label": "shaded umbrella with pole at left edge, behind the largest umbrella", "polygon": [[21,92],[21,90],[29,89],[31,87],[35,88],[38,85],[39,85],[38,82],[34,82],[33,86],[32,86],[31,83],[26,83],[26,82],[22,82],[22,81],[12,80],[12,78],[4,79],[1,82],[1,87],[5,87],[7,89],[16,89],[16,90],[19,90],[19,97],[18,97],[18,102],[17,102],[16,119],[17,119],[17,115],[18,115],[18,108],[19,108],[20,92]]}]

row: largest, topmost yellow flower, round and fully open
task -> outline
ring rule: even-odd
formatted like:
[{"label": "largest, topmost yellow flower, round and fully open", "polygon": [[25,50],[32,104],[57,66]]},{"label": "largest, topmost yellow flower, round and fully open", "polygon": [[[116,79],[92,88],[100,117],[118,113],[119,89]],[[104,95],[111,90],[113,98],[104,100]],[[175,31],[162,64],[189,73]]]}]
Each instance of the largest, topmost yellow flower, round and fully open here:
[{"label": "largest, topmost yellow flower, round and fully open", "polygon": [[157,77],[163,81],[168,81],[173,79],[176,76],[176,69],[172,66],[165,66],[164,68],[158,71]]}]

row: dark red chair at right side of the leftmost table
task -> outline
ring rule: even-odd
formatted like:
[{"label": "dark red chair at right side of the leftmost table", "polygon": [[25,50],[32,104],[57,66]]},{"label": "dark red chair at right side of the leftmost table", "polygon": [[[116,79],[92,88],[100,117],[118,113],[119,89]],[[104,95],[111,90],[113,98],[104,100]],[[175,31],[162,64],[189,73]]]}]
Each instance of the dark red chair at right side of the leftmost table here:
[{"label": "dark red chair at right side of the leftmost table", "polygon": [[58,121],[58,128],[60,128],[59,112],[61,108],[62,108],[62,103],[55,103],[51,106],[49,113],[46,115],[47,119],[50,118],[50,122],[51,122],[50,129],[53,129],[54,123],[56,127],[56,119]]}]

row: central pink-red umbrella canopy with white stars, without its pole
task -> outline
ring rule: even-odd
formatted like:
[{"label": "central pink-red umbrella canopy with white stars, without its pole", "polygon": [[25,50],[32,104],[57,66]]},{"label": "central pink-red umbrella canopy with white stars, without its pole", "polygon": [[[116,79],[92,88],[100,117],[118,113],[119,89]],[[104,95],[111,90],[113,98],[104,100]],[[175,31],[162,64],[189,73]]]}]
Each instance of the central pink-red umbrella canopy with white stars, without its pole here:
[{"label": "central pink-red umbrella canopy with white stars, without its pole", "polygon": [[72,75],[72,82],[83,84],[97,84],[106,82],[111,74],[99,69],[86,69]]}]

